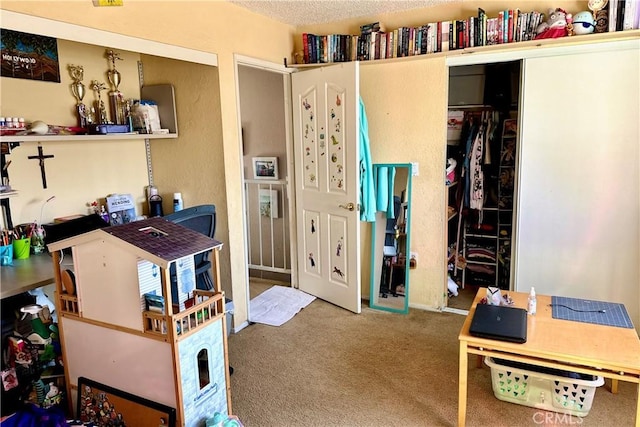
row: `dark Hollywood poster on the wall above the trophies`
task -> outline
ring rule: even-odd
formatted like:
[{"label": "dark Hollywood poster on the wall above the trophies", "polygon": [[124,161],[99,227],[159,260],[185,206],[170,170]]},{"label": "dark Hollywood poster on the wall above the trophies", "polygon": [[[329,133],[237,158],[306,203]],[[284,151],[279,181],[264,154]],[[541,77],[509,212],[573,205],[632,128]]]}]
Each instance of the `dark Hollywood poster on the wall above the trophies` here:
[{"label": "dark Hollywood poster on the wall above the trophies", "polygon": [[58,41],[53,37],[0,29],[2,77],[60,83]]}]

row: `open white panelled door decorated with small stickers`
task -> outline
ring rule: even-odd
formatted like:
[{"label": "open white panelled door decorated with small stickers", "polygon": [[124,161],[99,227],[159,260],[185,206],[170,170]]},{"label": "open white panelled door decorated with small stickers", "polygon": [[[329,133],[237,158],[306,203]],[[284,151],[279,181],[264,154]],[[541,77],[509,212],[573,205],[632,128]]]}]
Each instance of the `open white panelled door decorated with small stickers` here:
[{"label": "open white panelled door decorated with small stickers", "polygon": [[299,289],[360,313],[358,63],[292,75]]}]

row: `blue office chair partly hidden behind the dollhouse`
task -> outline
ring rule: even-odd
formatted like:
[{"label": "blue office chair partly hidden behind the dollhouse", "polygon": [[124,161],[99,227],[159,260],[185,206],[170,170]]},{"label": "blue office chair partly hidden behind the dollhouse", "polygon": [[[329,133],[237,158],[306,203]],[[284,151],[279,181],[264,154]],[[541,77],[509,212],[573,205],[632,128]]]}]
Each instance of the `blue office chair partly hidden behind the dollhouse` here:
[{"label": "blue office chair partly hidden behind the dollhouse", "polygon": [[[216,233],[216,207],[215,205],[199,205],[183,209],[178,212],[166,215],[167,221],[180,224],[191,230],[213,238]],[[194,255],[194,265],[196,268],[196,288],[210,291],[215,283],[211,277],[211,252],[207,251]],[[175,272],[175,265],[170,268],[172,300],[178,299],[178,279]]]}]

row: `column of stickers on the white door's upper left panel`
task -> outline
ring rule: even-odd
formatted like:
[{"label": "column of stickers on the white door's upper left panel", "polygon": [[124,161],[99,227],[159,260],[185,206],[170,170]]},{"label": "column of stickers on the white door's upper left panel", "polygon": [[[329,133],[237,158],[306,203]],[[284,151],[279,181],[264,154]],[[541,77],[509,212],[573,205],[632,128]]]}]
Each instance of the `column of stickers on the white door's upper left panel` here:
[{"label": "column of stickers on the white door's upper left panel", "polygon": [[[318,155],[325,154],[324,128],[318,129],[316,90],[312,88],[300,98],[300,117],[302,118],[302,165],[304,167],[305,188],[318,188]],[[319,135],[319,141],[318,141]]]}]

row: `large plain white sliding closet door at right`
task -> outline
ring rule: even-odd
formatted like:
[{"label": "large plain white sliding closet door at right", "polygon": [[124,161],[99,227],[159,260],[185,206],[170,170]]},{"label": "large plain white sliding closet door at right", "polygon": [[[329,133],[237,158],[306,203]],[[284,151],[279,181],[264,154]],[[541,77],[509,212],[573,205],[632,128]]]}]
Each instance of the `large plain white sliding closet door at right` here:
[{"label": "large plain white sliding closet door at right", "polygon": [[640,328],[640,42],[607,45],[524,62],[515,287],[624,303]]}]

